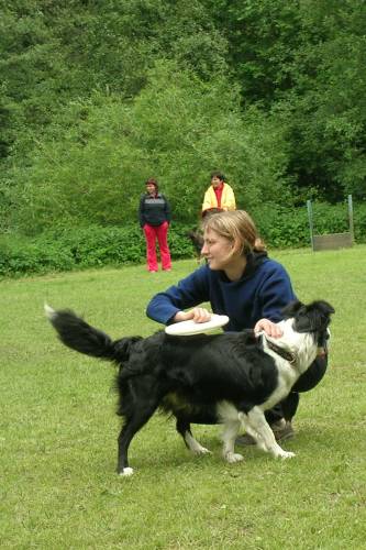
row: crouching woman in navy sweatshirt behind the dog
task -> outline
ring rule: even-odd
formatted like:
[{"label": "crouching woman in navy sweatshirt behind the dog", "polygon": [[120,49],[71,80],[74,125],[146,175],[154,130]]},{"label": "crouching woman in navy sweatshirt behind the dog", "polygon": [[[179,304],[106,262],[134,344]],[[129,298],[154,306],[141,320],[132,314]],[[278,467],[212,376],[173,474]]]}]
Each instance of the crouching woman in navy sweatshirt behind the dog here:
[{"label": "crouching woman in navy sweatshirt behind the dog", "polygon": [[[254,329],[281,336],[276,323],[281,320],[281,309],[296,295],[284,266],[268,257],[251,217],[243,210],[215,213],[203,221],[203,238],[207,264],[154,296],[147,316],[164,324],[188,319],[204,322],[210,312],[200,305],[210,302],[214,314],[230,318],[224,330]],[[314,387],[325,370],[326,360],[317,359],[287,399],[266,413],[278,440],[292,437],[298,393]],[[237,442],[253,440],[244,436]]]}]

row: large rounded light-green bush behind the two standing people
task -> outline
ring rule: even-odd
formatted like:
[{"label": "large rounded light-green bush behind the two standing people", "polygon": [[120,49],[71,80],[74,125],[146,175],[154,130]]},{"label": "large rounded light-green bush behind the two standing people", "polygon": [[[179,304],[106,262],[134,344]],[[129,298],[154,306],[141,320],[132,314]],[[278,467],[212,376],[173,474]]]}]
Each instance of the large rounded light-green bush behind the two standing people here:
[{"label": "large rounded light-green bush behind the two standing people", "polygon": [[[288,197],[286,147],[270,118],[242,119],[235,88],[203,82],[176,64],[157,64],[133,102],[96,94],[70,106],[67,131],[40,141],[29,167],[14,168],[14,226],[38,233],[65,221],[117,224],[136,217],[154,175],[181,222],[195,219],[212,167],[225,166],[239,205]],[[228,158],[232,161],[228,163]]]}]

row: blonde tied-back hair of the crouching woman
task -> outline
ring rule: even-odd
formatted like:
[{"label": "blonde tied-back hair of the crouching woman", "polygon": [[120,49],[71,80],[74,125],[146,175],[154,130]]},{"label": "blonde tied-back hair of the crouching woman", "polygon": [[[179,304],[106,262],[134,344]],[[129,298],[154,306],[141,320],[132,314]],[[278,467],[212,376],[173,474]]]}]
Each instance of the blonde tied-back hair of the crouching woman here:
[{"label": "blonde tied-back hair of the crouching woman", "polygon": [[245,210],[231,210],[208,216],[202,221],[203,231],[212,229],[229,241],[239,242],[241,253],[263,252],[266,246],[258,235],[251,216]]}]

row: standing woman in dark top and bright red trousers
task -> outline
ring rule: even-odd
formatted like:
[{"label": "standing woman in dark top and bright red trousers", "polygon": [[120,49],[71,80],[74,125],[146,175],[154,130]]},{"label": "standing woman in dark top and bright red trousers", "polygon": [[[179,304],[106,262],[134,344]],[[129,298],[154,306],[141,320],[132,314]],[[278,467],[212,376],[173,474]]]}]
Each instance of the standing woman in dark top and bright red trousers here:
[{"label": "standing woman in dark top and bright red trousers", "polygon": [[170,207],[162,193],[158,193],[157,180],[149,178],[146,182],[146,193],[141,197],[138,208],[140,226],[146,239],[147,270],[156,273],[156,240],[160,250],[163,271],[170,271],[171,260],[168,246],[168,229],[170,222]]}]

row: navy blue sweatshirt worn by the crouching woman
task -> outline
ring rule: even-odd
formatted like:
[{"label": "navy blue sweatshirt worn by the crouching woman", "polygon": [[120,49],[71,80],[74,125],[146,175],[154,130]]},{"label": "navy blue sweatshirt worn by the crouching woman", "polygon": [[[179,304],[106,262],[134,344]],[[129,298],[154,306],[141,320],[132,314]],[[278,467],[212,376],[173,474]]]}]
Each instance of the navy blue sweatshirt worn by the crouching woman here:
[{"label": "navy blue sweatshirt worn by the crouching woman", "polygon": [[259,319],[281,320],[281,309],[296,299],[286,270],[266,253],[247,257],[240,280],[230,280],[224,272],[199,267],[178,285],[153,297],[146,315],[163,324],[173,322],[177,311],[209,301],[214,314],[226,315],[225,331],[253,329]]}]

